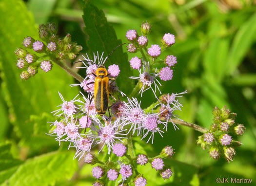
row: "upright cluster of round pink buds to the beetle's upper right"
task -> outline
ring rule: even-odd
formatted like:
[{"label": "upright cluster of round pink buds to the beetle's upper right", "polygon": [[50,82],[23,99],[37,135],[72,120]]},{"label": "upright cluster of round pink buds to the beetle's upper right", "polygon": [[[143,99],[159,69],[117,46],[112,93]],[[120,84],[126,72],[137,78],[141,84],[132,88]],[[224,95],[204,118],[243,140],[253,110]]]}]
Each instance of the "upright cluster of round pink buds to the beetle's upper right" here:
[{"label": "upright cluster of round pink buds to the beetle's upper right", "polygon": [[[140,83],[140,92],[141,96],[146,90],[151,89],[153,93],[156,95],[156,91],[161,86],[160,82],[157,78],[162,81],[171,80],[173,78],[173,67],[177,63],[177,58],[172,55],[168,55],[163,59],[159,59],[158,57],[161,55],[161,52],[166,48],[172,46],[175,43],[175,36],[167,33],[162,37],[161,46],[158,44],[152,44],[147,48],[148,38],[151,29],[151,25],[149,23],[142,23],[141,25],[141,34],[139,36],[136,30],[129,30],[126,33],[126,38],[130,42],[127,46],[127,50],[130,53],[137,53],[138,51],[141,53],[142,58],[135,56],[130,59],[130,65],[133,69],[139,71],[139,76],[132,76],[130,78],[137,79]],[[146,55],[145,55],[146,54]],[[148,60],[149,59],[149,60]],[[162,67],[160,69],[153,68],[155,63],[161,64]]]}]

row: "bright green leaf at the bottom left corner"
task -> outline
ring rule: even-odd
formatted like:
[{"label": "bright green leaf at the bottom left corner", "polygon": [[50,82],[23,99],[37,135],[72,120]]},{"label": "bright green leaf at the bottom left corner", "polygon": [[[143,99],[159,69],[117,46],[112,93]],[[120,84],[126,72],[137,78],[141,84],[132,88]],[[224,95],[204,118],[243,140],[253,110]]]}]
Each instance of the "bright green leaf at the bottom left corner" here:
[{"label": "bright green leaf at the bottom left corner", "polygon": [[69,180],[78,170],[73,152],[52,152],[27,160],[3,186],[48,186]]}]

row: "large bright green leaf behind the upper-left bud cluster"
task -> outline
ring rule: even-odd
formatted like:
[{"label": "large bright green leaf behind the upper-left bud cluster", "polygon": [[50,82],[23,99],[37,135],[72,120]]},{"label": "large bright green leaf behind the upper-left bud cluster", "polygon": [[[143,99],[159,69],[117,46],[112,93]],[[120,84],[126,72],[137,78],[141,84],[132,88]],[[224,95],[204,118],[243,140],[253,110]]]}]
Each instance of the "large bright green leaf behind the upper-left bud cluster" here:
[{"label": "large bright green leaf behind the upper-left bud cluster", "polygon": [[2,89],[6,93],[4,98],[14,115],[15,129],[18,129],[16,131],[23,138],[29,139],[34,130],[34,123],[29,122],[30,115],[56,110],[56,106],[61,103],[58,92],[68,100],[74,98],[78,89],[69,86],[73,83],[73,78],[57,65],[48,73],[39,69],[35,77],[21,81],[20,70],[15,66],[17,59],[14,51],[25,36],[37,38],[37,29],[21,0],[1,1],[0,15],[0,43],[8,41],[4,47],[0,47]]}]

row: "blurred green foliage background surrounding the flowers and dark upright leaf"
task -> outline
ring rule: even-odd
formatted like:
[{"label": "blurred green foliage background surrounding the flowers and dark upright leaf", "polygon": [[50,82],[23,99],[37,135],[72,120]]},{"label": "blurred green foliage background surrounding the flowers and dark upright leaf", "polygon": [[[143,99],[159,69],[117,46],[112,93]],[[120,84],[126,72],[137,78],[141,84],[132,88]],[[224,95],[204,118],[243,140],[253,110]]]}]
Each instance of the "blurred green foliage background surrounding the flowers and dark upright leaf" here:
[{"label": "blurred green foliage background surrounding the flowers and dark upright leaf", "polygon": [[[256,0],[94,0],[93,4],[103,10],[123,43],[127,42],[126,32],[136,29],[139,33],[145,20],[152,24],[149,46],[160,44],[165,33],[176,36],[176,44],[161,55],[177,56],[174,78],[162,83],[161,90],[188,90],[180,99],[183,110],[177,114],[181,119],[209,128],[213,108],[227,105],[237,113],[236,123],[246,127],[239,139],[243,145],[236,149],[231,163],[223,158],[213,160],[207,150],[198,147],[199,132],[183,126],[176,131],[169,127],[164,138],[156,135],[153,145],[143,147],[155,156],[164,146],[173,146],[176,153],[165,163],[174,176],[164,181],[150,166],[139,167],[148,185],[217,185],[217,177],[249,178],[255,185]],[[47,21],[58,24],[60,36],[70,33],[72,40],[83,46],[82,54],[100,51],[100,46],[84,33],[83,5],[82,0],[0,0],[2,185],[87,186],[94,181],[90,165],[73,160],[74,151],[66,150],[68,144],[59,147],[53,137],[45,134],[50,125],[46,122],[55,120],[50,112],[61,103],[58,91],[65,100],[79,93],[78,87],[69,86],[75,80],[54,66],[47,74],[39,72],[21,81],[14,54],[24,37],[38,38],[38,25]],[[123,49],[126,52],[125,46]],[[128,59],[124,56],[127,61],[115,63],[128,63],[133,56],[128,54]],[[85,71],[79,73],[84,75]],[[123,87],[123,82],[126,80],[119,80],[118,86]],[[150,105],[152,99],[151,91],[143,94],[142,107]],[[136,144],[138,151],[143,143]]]}]

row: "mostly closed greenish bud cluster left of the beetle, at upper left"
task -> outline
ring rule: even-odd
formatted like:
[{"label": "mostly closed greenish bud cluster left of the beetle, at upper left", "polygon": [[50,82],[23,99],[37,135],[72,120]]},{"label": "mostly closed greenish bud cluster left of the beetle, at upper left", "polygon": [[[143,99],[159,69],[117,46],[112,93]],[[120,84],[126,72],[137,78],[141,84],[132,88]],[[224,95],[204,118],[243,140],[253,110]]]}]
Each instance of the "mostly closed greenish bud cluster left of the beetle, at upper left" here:
[{"label": "mostly closed greenish bud cluster left of the beetle, at upper left", "polygon": [[48,22],[46,25],[39,25],[39,40],[33,37],[25,37],[23,46],[17,48],[16,66],[23,71],[20,78],[27,80],[38,73],[38,69],[49,72],[53,63],[58,59],[74,59],[82,50],[80,45],[71,42],[71,35],[67,34],[64,38],[57,36],[57,26]]}]

